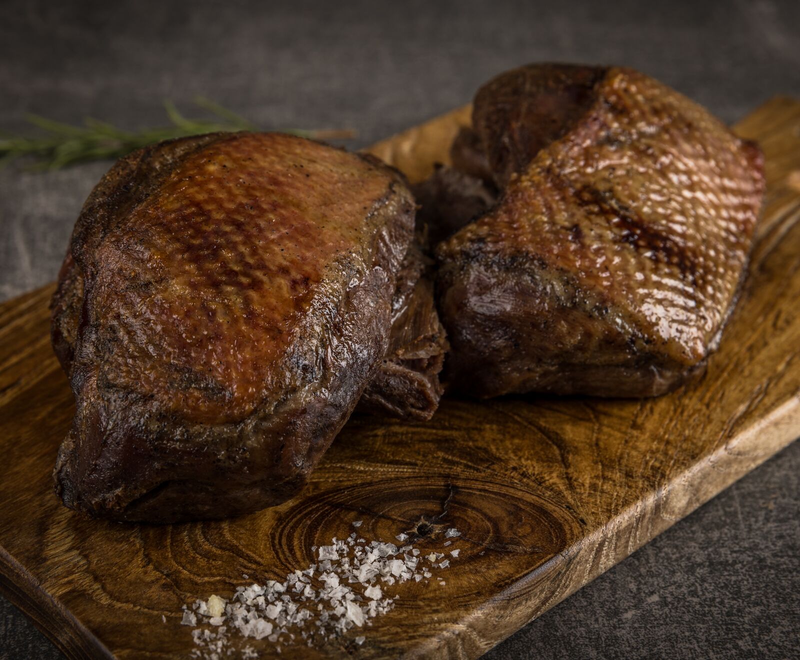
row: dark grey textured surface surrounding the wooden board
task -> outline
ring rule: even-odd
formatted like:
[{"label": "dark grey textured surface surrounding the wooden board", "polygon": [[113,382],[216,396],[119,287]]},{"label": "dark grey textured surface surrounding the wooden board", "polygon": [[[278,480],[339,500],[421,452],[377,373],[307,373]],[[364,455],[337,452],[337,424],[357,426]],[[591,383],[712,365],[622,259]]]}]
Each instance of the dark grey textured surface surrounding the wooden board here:
[{"label": "dark grey textured surface surrounding the wooden board", "polygon": [[[0,2],[0,130],[26,112],[163,123],[198,94],[266,128],[362,146],[535,60],[637,67],[733,122],[800,95],[800,2]],[[54,279],[108,163],[0,171],[0,300]],[[790,658],[800,621],[794,445],[486,657]],[[60,658],[0,598],[0,658]]]}]

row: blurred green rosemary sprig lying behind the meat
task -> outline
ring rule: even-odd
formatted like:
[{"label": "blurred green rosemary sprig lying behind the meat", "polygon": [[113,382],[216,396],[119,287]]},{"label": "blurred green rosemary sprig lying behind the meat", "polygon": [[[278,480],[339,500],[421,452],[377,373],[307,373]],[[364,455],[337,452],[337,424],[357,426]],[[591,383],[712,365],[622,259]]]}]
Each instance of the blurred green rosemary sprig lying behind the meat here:
[{"label": "blurred green rosemary sprig lying behind the meat", "polygon": [[[121,158],[131,151],[171,138],[185,138],[217,131],[259,130],[252,122],[207,98],[196,98],[194,103],[214,115],[214,119],[184,117],[174,103],[164,102],[170,126],[122,130],[97,119],[86,119],[83,126],[70,126],[36,114],[26,116],[26,121],[36,126],[38,137],[0,136],[0,166],[18,158],[32,158],[35,170],[59,170],[78,162]],[[286,130],[286,133],[304,138],[322,140],[347,139],[354,136],[351,130]]]}]

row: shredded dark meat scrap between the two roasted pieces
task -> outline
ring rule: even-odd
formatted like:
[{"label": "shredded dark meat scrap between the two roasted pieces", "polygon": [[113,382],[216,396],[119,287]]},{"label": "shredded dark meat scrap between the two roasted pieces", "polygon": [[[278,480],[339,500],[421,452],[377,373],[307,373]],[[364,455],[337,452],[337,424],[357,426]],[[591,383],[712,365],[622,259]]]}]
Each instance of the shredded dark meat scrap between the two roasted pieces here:
[{"label": "shredded dark meat scrap between the two roasted pieces", "polygon": [[436,311],[429,262],[413,243],[394,290],[389,349],[358,402],[358,412],[426,420],[438,408],[447,340]]}]

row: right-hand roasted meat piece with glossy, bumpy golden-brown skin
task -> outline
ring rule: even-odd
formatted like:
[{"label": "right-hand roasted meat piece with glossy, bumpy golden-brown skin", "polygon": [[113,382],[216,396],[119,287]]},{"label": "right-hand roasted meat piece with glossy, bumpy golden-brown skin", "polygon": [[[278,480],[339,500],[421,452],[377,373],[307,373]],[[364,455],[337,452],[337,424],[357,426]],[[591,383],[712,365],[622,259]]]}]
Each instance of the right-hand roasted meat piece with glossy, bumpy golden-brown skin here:
[{"label": "right-hand roasted meat piece with glossy, bumpy golden-brown skin", "polygon": [[622,68],[510,71],[473,119],[502,198],[437,250],[453,386],[639,397],[695,373],[746,268],[758,147]]}]

